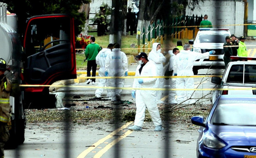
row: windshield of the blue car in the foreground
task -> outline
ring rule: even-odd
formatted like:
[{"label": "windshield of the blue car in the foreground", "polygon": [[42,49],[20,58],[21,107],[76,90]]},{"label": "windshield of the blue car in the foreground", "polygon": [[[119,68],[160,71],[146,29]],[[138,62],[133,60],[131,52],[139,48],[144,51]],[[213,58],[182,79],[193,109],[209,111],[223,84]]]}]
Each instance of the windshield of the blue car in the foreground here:
[{"label": "windshield of the blue car in the foreground", "polygon": [[254,104],[241,101],[236,104],[219,104],[211,117],[211,123],[256,126],[256,104],[252,102]]}]

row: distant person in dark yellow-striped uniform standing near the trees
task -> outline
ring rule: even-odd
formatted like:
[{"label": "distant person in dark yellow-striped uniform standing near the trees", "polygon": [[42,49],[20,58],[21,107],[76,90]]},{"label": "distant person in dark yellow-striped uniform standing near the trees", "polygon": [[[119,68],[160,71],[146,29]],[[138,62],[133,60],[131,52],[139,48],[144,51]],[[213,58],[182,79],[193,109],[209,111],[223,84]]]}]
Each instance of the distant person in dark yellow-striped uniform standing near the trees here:
[{"label": "distant person in dark yellow-striped uniform standing near the trees", "polygon": [[97,36],[107,35],[106,33],[106,17],[105,17],[105,6],[101,5],[99,7],[100,11],[97,15]]}]

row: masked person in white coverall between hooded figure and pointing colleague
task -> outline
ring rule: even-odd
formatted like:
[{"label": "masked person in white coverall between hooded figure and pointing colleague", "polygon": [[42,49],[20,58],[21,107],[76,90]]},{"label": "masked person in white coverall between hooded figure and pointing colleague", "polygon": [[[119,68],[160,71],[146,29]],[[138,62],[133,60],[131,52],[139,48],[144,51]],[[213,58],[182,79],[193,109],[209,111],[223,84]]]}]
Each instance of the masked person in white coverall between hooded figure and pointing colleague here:
[{"label": "masked person in white coverall between hooded figure and pointing colleague", "polygon": [[[179,49],[174,48],[172,51],[169,50],[168,53],[171,55],[170,60],[169,60],[169,68],[168,69],[169,69],[169,71],[173,70],[172,76],[174,76],[174,74],[177,73],[177,69],[174,69],[173,65],[174,65],[174,60],[176,58],[176,55],[179,53]],[[176,79],[170,78],[169,83],[170,83],[171,89],[176,89]],[[169,91],[169,98],[168,98],[169,104],[177,104],[177,101],[175,100],[175,96],[176,96],[175,90]]]}]

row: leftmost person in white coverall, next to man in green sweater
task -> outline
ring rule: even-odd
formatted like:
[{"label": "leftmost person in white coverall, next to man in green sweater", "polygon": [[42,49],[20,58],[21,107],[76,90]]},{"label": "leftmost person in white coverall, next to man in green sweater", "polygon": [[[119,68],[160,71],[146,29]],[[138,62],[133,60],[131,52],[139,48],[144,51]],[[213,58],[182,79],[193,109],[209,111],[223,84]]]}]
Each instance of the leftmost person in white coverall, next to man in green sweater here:
[{"label": "leftmost person in white coverall, next to man in green sweater", "polygon": [[[111,50],[113,48],[113,44],[110,43],[107,48],[103,48],[101,51],[96,56],[96,64],[99,65],[99,77],[104,77],[105,76],[105,61],[106,57],[108,54],[111,53]],[[98,86],[110,86],[110,81],[109,79],[99,79],[99,84]],[[100,98],[101,94],[103,92],[103,88],[98,88],[95,91],[95,97]],[[111,90],[107,89],[107,97],[111,97]]]}]

